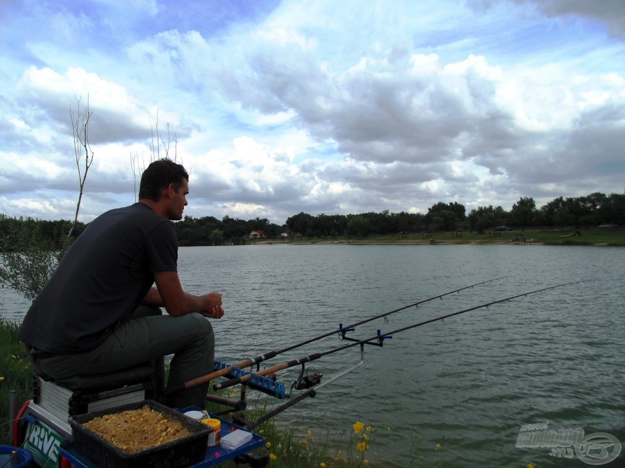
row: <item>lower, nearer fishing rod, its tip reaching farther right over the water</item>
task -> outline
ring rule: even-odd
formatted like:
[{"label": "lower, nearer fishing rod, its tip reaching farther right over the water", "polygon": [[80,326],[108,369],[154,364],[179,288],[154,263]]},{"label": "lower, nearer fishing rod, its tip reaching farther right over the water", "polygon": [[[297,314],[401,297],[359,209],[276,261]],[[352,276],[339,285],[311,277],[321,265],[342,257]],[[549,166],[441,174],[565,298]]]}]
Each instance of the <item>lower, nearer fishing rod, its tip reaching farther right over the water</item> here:
[{"label": "lower, nearer fishing rod, its tip reaching farther right over the water", "polygon": [[388,333],[384,333],[383,335],[381,335],[379,333],[379,330],[377,331],[377,334],[375,336],[372,336],[371,338],[367,338],[367,339],[361,339],[359,341],[354,341],[354,343],[349,343],[349,344],[344,344],[343,346],[339,346],[338,348],[334,348],[334,349],[330,349],[329,351],[324,351],[323,353],[313,353],[313,354],[309,354],[308,356],[304,356],[303,358],[299,358],[299,359],[294,359],[292,361],[287,361],[286,363],[282,363],[282,364],[277,364],[276,366],[272,366],[270,368],[266,368],[266,369],[262,369],[259,371],[256,371],[256,373],[251,373],[251,374],[245,374],[236,378],[232,378],[229,379],[227,381],[224,381],[222,383],[219,384],[214,384],[212,386],[213,390],[221,390],[224,388],[228,388],[231,387],[233,385],[239,384],[239,383],[244,383],[246,381],[248,381],[250,378],[252,378],[252,376],[264,376],[267,374],[272,374],[275,373],[277,371],[281,371],[283,369],[288,369],[288,368],[292,368],[294,366],[298,366],[299,364],[305,364],[309,361],[315,361],[316,359],[322,358],[323,356],[327,356],[328,354],[332,354],[332,353],[336,353],[337,351],[342,351],[343,349],[347,349],[347,348],[351,348],[352,346],[356,346],[357,344],[365,344],[365,343],[369,343],[371,341],[375,341],[376,339],[383,339],[383,336],[389,335],[389,334],[394,334],[394,333],[399,333],[401,331],[406,331],[409,330],[411,328],[416,328],[417,326],[421,326],[421,325],[425,325],[427,323],[432,323],[432,322],[436,322],[439,320],[444,320],[446,318],[452,317],[454,315],[459,315],[459,314],[463,314],[472,310],[477,310],[477,309],[481,309],[484,307],[488,307],[494,304],[498,304],[501,302],[505,302],[505,301],[511,301],[512,299],[516,299],[522,296],[529,296],[531,294],[534,293],[539,293],[541,291],[547,291],[547,290],[552,290],[554,288],[559,288],[561,286],[568,286],[568,285],[574,285],[576,283],[582,283],[583,281],[588,281],[588,280],[580,280],[580,281],[571,281],[570,283],[562,283],[561,285],[555,285],[555,286],[547,286],[546,288],[541,288],[538,290],[534,290],[534,291],[529,291],[527,293],[521,293],[521,294],[517,294],[514,296],[509,296],[507,298],[504,299],[499,299],[496,301],[491,301],[488,303],[484,303],[481,304],[479,306],[474,306],[474,307],[470,307],[468,309],[463,309],[461,311],[457,311],[457,312],[452,312],[449,314],[445,314],[445,315],[441,315],[439,317],[436,318],[431,318],[429,320],[424,320],[422,322],[416,323],[416,324],[412,324],[412,325],[408,325],[408,326],[404,326],[402,328],[397,328],[396,330],[393,331],[389,331]]}]

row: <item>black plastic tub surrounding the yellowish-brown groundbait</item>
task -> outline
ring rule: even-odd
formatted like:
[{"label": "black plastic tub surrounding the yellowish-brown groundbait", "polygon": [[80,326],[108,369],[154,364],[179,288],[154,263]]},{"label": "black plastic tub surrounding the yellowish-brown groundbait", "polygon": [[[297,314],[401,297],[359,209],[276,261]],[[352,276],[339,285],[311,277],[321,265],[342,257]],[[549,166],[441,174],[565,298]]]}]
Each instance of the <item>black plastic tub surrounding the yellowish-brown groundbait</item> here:
[{"label": "black plastic tub surrounding the yellowish-brown groundbait", "polygon": [[[191,434],[176,441],[160,444],[142,451],[129,453],[106,441],[84,427],[86,422],[94,417],[105,414],[117,414],[119,412],[139,409],[148,405],[151,409],[163,413],[166,419],[178,421]],[[99,468],[160,468],[173,466],[191,466],[204,460],[206,445],[212,428],[199,421],[184,416],[156,401],[145,400],[134,402],[114,409],[94,411],[88,414],[80,414],[69,419],[74,439],[74,449],[86,457]]]}]

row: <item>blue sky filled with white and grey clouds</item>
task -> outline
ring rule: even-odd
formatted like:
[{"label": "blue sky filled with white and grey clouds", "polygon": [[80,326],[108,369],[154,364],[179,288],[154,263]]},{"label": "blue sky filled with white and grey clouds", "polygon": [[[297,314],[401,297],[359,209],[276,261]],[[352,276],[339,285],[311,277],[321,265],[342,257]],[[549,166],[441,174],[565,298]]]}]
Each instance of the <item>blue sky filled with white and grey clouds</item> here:
[{"label": "blue sky filled with white and grey clouds", "polygon": [[194,217],[625,188],[623,0],[0,0],[0,51],[11,216],[73,218],[77,98],[83,222],[134,202],[157,122]]}]

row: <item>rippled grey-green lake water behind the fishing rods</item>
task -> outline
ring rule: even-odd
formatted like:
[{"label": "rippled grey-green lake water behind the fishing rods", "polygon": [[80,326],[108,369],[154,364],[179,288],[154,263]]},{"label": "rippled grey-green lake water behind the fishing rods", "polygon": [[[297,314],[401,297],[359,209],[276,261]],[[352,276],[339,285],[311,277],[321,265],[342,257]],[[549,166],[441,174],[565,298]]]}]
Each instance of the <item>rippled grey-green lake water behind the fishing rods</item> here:
[{"label": "rippled grey-green lake water behind the fishing rods", "polygon": [[[213,321],[226,362],[286,348],[384,311],[480,281],[485,285],[357,327],[370,338],[409,324],[545,286],[524,296],[395,334],[366,346],[364,366],[275,417],[310,428],[331,447],[352,424],[376,427],[372,466],[409,466],[418,454],[444,466],[586,466],[516,447],[523,424],[582,427],[625,444],[625,248],[537,245],[252,245],[186,247],[179,273],[192,293],[223,293]],[[2,313],[19,320],[27,301],[0,290]],[[277,364],[346,344],[336,335],[293,349]],[[324,381],[359,361],[359,348],[308,366]],[[287,390],[299,369],[279,373]],[[273,404],[273,400],[269,401]],[[390,428],[387,429],[387,428]],[[440,448],[436,449],[437,444]],[[332,450],[330,451],[331,453]],[[612,452],[612,449],[610,449]],[[377,455],[376,455],[377,454]],[[625,447],[616,461],[623,466]],[[437,466],[437,465],[436,465]]]}]

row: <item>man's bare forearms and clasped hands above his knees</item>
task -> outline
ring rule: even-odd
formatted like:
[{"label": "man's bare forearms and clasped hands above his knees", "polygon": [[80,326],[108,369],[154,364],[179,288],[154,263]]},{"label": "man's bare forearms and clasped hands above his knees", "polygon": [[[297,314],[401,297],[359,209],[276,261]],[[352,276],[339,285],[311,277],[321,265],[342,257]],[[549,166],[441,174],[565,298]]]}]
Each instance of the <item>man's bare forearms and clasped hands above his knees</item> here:
[{"label": "man's bare forearms and clasped hands above his knees", "polygon": [[157,271],[154,273],[156,290],[152,288],[144,303],[164,306],[169,315],[178,317],[191,312],[199,312],[206,317],[221,318],[221,294],[209,293],[194,296],[183,291],[176,271]]}]

